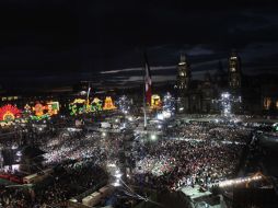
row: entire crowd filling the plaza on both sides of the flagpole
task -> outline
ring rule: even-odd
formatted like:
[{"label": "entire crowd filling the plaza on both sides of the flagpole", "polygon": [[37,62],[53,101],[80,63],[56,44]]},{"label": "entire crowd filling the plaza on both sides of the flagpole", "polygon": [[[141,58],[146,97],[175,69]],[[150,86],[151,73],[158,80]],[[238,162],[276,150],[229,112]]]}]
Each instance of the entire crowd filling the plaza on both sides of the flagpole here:
[{"label": "entire crowd filling the plaza on both sides of the flagpole", "polygon": [[[123,134],[73,128],[43,132],[36,139],[36,146],[46,152],[42,166],[55,172],[34,188],[0,186],[0,207],[65,207],[71,197],[108,180],[106,164],[123,166],[125,151],[130,151],[125,152],[130,167],[129,184],[172,190],[196,184],[209,186],[236,174],[252,128],[216,122],[178,122],[163,131],[155,140],[141,135],[128,150],[123,149]],[[16,141],[8,145],[0,142],[1,148],[11,148]]]}]

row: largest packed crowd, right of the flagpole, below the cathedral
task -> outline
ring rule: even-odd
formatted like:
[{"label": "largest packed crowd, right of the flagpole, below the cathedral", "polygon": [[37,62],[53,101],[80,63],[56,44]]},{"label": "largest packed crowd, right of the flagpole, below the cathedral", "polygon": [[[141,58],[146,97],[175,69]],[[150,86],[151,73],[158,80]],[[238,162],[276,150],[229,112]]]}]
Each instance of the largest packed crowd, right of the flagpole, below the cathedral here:
[{"label": "largest packed crowd, right of the flagpole, below the cathedral", "polygon": [[[177,189],[184,185],[208,186],[231,177],[251,134],[241,126],[204,123],[182,124],[171,132],[155,143],[136,147],[137,152],[143,152],[136,158],[136,184]],[[153,174],[158,167],[163,173],[159,176]]]}]

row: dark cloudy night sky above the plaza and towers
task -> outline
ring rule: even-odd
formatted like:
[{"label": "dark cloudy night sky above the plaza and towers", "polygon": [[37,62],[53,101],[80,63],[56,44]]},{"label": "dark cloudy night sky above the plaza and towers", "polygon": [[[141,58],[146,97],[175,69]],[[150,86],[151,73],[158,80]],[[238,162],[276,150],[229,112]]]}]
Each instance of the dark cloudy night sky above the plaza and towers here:
[{"label": "dark cloudy night sky above the plaza and towers", "polygon": [[197,78],[225,67],[233,48],[245,73],[278,71],[275,1],[147,2],[1,1],[0,83],[130,85],[141,81],[143,48],[157,82],[175,79],[181,51]]}]

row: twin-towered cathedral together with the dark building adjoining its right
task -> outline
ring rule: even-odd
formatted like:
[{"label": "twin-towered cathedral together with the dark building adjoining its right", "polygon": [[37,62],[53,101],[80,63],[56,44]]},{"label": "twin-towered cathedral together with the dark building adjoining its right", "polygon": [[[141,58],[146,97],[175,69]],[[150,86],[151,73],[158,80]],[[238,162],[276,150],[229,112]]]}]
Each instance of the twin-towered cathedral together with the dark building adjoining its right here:
[{"label": "twin-towered cathedral together with the dark building adjoining its right", "polygon": [[235,51],[229,56],[227,68],[219,61],[213,74],[206,72],[202,80],[193,80],[188,58],[182,55],[175,85],[177,112],[219,114],[225,105],[234,114],[278,115],[277,74],[244,74]]}]

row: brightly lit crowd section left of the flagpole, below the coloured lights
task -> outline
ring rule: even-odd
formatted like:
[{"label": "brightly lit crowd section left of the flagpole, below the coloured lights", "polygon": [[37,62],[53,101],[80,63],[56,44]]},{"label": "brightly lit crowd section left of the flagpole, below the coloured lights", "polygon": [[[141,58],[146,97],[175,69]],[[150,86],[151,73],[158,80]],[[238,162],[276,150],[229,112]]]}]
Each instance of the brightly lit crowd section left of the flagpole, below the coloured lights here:
[{"label": "brightly lit crowd section left of the flagpole, below the coloured lights", "polygon": [[[114,137],[115,136],[115,137]],[[103,136],[99,132],[61,131],[56,137],[47,137],[40,143],[45,153],[45,165],[59,164],[67,160],[91,159],[95,164],[104,163],[117,157],[120,141],[118,135]]]}]

